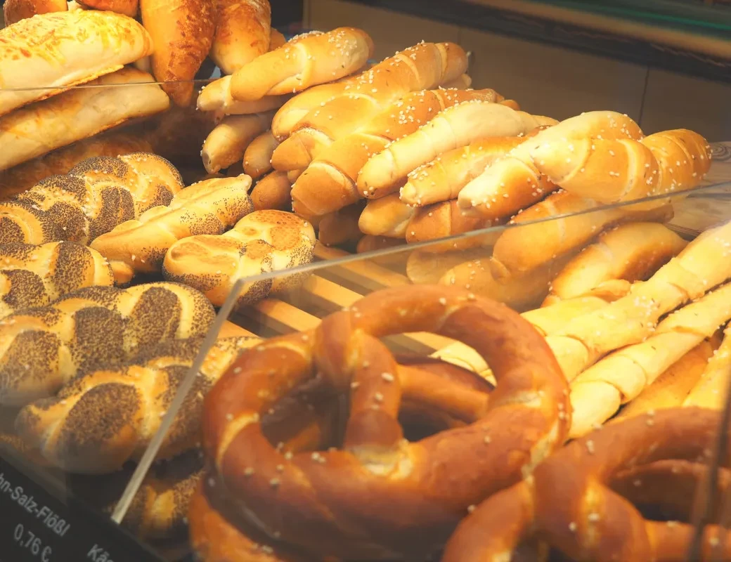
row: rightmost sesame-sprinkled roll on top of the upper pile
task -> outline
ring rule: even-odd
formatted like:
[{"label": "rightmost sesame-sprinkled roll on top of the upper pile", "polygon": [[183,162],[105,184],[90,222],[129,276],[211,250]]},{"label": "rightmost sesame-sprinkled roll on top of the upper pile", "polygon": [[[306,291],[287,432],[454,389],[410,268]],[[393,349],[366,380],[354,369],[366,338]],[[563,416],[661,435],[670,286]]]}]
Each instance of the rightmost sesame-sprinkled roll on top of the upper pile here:
[{"label": "rightmost sesame-sprinkled roll on top of the upper pile", "polygon": [[687,129],[641,140],[602,135],[556,138],[535,146],[530,155],[553,183],[603,203],[692,189],[711,167],[708,142]]}]

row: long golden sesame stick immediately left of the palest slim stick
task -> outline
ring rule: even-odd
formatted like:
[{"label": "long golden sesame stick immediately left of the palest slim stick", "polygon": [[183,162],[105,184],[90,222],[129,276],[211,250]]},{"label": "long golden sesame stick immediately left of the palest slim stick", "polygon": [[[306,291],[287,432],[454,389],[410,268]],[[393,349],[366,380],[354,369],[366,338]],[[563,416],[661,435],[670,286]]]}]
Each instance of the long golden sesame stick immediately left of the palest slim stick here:
[{"label": "long golden sesame stick immediately left of the palest slim stick", "polygon": [[[426,90],[406,94],[398,102],[374,115],[356,132],[348,134],[322,150],[292,186],[292,199],[308,215],[322,215],[352,205],[364,194],[357,190],[358,172],[368,159],[389,143],[416,131],[445,107],[480,99],[500,102],[493,90]],[[288,143],[285,140],[284,143]],[[282,155],[275,151],[274,167],[289,170]]]}]

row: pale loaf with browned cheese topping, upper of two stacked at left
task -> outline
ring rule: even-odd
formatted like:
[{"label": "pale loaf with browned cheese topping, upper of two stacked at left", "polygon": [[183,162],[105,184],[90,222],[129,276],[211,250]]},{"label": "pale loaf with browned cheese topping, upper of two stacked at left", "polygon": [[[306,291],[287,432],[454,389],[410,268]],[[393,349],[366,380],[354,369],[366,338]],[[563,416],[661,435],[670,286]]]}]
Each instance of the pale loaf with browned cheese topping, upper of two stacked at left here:
[{"label": "pale loaf with browned cheese topping, upper of two stacked at left", "polygon": [[[0,30],[0,115],[58,94],[55,86],[88,82],[152,51],[143,26],[113,12],[76,10],[22,20]],[[79,125],[83,119],[77,117]]]}]

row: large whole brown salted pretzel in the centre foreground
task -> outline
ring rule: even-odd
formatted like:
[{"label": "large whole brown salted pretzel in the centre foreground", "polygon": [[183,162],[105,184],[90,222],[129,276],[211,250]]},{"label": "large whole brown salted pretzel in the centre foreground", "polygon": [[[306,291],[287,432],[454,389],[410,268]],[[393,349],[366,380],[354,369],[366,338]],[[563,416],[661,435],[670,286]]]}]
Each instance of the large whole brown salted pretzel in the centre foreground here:
[{"label": "large whole brown salted pretzel in the centre foreground", "polygon": [[[498,381],[479,413],[449,384],[424,385],[431,408],[466,425],[409,443],[398,422],[401,376],[377,338],[455,338]],[[260,418],[315,373],[349,397],[341,450],[286,455]],[[319,556],[417,557],[443,544],[469,509],[530,474],[563,443],[567,383],[541,336],[507,306],[444,286],[374,292],[308,333],[244,352],[206,400],[204,442],[218,493],[266,535]],[[414,558],[415,559],[415,558]]]}]

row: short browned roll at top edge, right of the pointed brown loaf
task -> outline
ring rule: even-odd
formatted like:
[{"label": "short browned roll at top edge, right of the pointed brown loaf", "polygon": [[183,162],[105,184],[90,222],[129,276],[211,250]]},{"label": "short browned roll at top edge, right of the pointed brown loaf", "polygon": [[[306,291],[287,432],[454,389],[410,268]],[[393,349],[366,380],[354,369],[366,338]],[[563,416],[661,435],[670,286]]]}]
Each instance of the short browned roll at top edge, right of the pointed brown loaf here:
[{"label": "short browned roll at top edge, right of the pointed brown loaf", "polygon": [[269,0],[215,0],[216,34],[211,58],[231,75],[269,50]]}]

